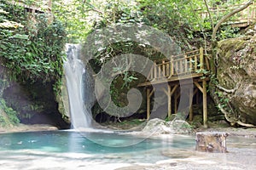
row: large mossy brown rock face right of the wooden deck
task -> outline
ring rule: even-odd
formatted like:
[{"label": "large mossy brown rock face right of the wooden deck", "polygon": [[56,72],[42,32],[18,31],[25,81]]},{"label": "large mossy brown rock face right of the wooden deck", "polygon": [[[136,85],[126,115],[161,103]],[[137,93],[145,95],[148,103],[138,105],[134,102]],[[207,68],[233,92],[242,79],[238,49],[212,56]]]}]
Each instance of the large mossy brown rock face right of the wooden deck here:
[{"label": "large mossy brown rock face right of the wooden deck", "polygon": [[218,89],[217,93],[231,105],[229,112],[237,120],[256,125],[256,27],[248,31],[249,36],[218,43],[218,84],[234,91]]}]

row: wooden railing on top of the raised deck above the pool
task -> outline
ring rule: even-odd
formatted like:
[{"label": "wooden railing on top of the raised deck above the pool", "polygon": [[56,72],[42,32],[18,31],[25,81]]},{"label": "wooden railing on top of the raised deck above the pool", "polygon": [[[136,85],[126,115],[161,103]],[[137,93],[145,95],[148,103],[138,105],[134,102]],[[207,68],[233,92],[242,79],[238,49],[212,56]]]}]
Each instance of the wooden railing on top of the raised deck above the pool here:
[{"label": "wooden railing on top of the raised deck above the pool", "polygon": [[154,61],[154,65],[148,74],[148,80],[181,77],[191,73],[199,74],[209,70],[209,67],[204,50],[200,48],[185,54],[171,56],[169,59]]}]

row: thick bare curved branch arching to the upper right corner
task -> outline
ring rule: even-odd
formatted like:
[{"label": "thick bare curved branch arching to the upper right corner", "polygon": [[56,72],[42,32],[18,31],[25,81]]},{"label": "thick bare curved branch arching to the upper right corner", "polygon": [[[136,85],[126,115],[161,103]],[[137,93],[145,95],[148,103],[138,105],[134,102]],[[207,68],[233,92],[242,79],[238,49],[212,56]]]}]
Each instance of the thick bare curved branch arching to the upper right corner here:
[{"label": "thick bare curved branch arching to the upper right corner", "polygon": [[221,26],[221,24],[227,20],[228,18],[230,18],[231,16],[233,16],[236,13],[239,13],[241,10],[247,8],[248,6],[250,6],[251,4],[253,4],[253,0],[250,0],[249,2],[245,3],[243,6],[241,6],[241,8],[236,8],[235,10],[233,10],[232,12],[230,12],[229,14],[224,15],[224,17],[222,17],[221,20],[218,21],[217,25],[213,28],[212,31],[212,41],[215,41],[216,38],[216,33],[218,31],[219,26]]}]

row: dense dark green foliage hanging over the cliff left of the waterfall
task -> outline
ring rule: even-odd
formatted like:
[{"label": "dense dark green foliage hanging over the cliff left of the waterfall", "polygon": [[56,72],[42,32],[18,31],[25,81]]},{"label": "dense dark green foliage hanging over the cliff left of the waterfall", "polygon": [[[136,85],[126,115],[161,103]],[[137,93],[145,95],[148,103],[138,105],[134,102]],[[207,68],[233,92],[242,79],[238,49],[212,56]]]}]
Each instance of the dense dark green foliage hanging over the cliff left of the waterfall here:
[{"label": "dense dark green foliage hanging over the cliff left of the waterfall", "polygon": [[1,1],[1,64],[19,81],[50,82],[62,76],[65,29],[47,14],[32,15]]}]

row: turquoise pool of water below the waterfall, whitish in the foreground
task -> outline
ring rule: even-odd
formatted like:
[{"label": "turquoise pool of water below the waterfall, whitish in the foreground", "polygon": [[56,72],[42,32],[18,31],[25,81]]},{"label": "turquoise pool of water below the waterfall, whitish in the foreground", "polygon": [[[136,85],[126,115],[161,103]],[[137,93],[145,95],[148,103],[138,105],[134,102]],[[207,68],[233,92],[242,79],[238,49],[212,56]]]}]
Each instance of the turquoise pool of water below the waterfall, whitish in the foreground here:
[{"label": "turquoise pool of water below the waterfall, whitish in the foreground", "polygon": [[[134,141],[141,142],[134,144]],[[108,147],[124,143],[131,145]],[[163,154],[166,150],[193,150],[194,146],[195,139],[189,136],[139,139],[119,133],[6,133],[0,135],[0,166],[4,169],[114,169],[130,164],[153,164],[170,159]]]}]

